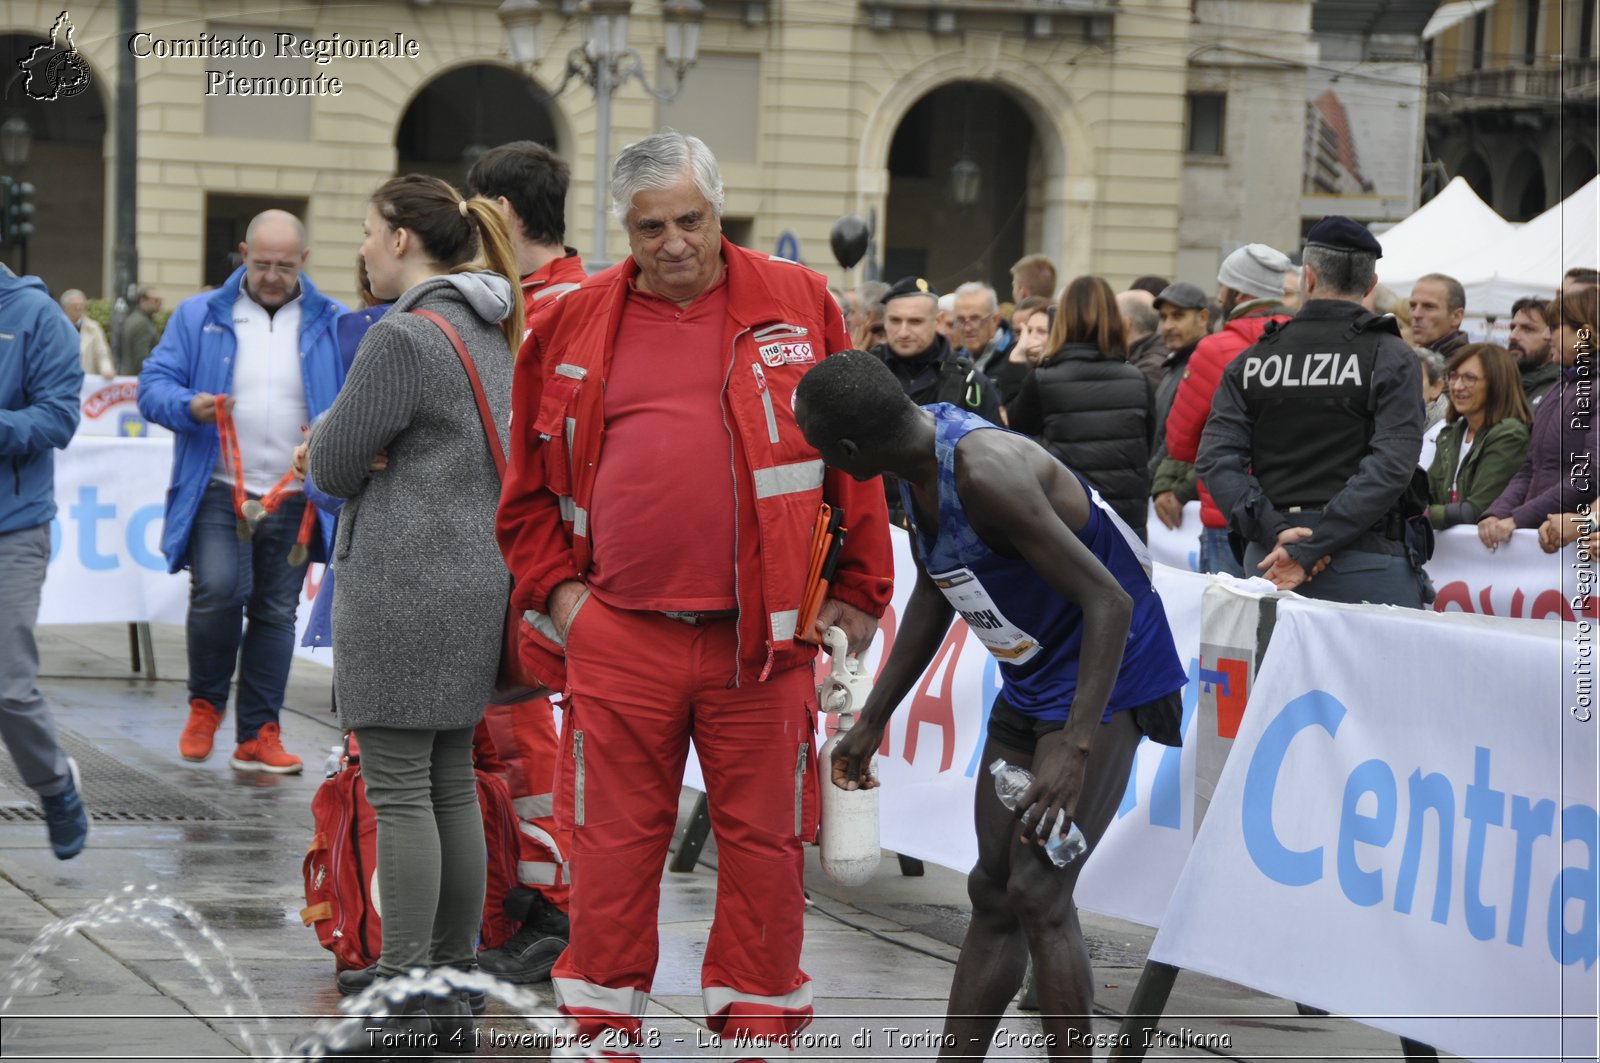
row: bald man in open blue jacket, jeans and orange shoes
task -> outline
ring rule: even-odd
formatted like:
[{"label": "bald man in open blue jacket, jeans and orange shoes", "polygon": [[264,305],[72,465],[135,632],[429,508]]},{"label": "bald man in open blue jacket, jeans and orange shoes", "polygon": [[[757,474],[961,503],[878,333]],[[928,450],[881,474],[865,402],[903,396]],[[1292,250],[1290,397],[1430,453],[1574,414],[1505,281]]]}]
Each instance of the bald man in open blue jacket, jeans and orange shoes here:
[{"label": "bald man in open blue jacket, jeans and orange shoes", "polygon": [[[238,503],[259,499],[288,472],[302,427],[333,405],[344,383],[336,322],[346,311],[302,272],[309,250],[294,215],[256,215],[238,250],[245,264],[227,283],[173,312],[139,373],[139,411],[178,434],[162,533],[168,570],[190,572],[189,722],[178,752],[211,756],[237,661],[229,764],[291,775],[302,764],[283,749],[278,712],[306,576],[306,560],[290,559],[306,496],[291,483],[248,538]],[[218,435],[219,400],[234,423],[237,466]],[[318,554],[322,541],[310,540]]]}]

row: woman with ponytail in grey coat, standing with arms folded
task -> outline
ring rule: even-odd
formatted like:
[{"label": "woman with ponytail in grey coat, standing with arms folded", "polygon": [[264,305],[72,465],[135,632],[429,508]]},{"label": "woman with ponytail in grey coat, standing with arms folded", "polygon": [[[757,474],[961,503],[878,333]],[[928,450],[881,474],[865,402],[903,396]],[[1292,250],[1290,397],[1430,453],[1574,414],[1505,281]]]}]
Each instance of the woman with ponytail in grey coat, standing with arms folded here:
[{"label": "woman with ponytail in grey coat, standing with arms folded", "polygon": [[378,813],[376,973],[389,977],[475,957],[485,850],[472,730],[510,594],[494,541],[499,475],[467,373],[445,331],[410,311],[435,311],[459,333],[501,447],[523,311],[493,202],[406,174],[373,194],[363,229],[373,291],[397,303],[362,341],[309,466],[347,499],[333,551],[334,687]]}]

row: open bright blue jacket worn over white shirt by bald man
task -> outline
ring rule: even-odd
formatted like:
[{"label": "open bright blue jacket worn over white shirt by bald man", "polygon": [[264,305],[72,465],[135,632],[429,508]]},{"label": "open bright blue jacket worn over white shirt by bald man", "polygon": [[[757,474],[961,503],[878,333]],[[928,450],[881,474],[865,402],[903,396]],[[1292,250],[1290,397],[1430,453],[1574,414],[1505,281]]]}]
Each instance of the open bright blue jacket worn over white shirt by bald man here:
[{"label": "open bright blue jacket worn over white shirt by bald man", "polygon": [[[166,322],[162,343],[139,371],[139,413],[178,434],[173,448],[173,480],[166,488],[166,527],[162,552],[166,570],[178,572],[189,562],[189,530],[200,496],[211,480],[221,443],[216,424],[200,424],[189,413],[189,400],[200,392],[227,394],[234,389],[234,304],[245,280],[240,266],[216,291],[184,299]],[[344,363],[334,325],[347,311],[323,296],[301,274],[301,378],[306,411],[312,419],[333,405],[344,384]],[[318,512],[320,541],[312,543],[312,560],[328,556],[333,519]],[[320,549],[317,549],[320,548]]]}]

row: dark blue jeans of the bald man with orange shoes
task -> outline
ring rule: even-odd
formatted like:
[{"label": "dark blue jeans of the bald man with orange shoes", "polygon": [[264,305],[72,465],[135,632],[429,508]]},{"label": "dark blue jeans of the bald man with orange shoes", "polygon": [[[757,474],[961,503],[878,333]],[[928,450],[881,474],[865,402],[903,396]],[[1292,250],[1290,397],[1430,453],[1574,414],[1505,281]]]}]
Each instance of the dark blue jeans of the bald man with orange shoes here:
[{"label": "dark blue jeans of the bald man with orange shoes", "polygon": [[290,495],[256,525],[254,540],[240,543],[232,488],[211,480],[189,533],[189,696],[222,711],[237,661],[234,732],[242,743],[275,724],[283,708],[306,581],[306,565],[288,557],[304,511],[306,496]]}]

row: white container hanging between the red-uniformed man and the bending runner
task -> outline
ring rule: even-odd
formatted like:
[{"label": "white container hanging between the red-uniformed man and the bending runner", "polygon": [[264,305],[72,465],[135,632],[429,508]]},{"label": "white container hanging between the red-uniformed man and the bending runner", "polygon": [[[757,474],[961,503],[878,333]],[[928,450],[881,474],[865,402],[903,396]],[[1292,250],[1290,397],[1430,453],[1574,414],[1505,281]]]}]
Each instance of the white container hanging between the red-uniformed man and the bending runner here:
[{"label": "white container hanging between the red-uniformed man and the bending runner", "polygon": [[[872,677],[862,671],[861,661],[846,652],[848,640],[843,631],[829,628],[824,642],[834,655],[834,668],[818,690],[818,704],[824,712],[838,712],[838,730],[822,744],[818,764],[822,773],[819,788],[822,871],[840,885],[862,885],[872,879],[883,858],[878,845],[878,791],[875,786],[872,789],[834,786],[832,765],[834,748],[854,724],[856,712],[872,692]],[[877,778],[877,764],[869,764],[867,772]]]}]

